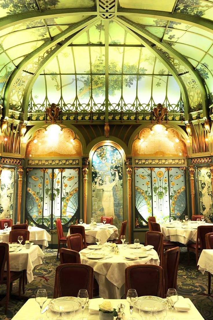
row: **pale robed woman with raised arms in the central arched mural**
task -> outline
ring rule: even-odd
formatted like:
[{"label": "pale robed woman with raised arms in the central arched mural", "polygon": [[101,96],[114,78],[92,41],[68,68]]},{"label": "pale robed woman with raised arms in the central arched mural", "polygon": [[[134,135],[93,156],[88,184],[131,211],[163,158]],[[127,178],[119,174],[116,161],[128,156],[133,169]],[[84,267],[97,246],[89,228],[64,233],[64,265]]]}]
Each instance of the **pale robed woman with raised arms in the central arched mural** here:
[{"label": "pale robed woman with raised arms in the central arched mural", "polygon": [[118,182],[118,171],[117,169],[113,169],[113,170],[115,171],[115,180],[113,182],[110,182],[111,176],[107,174],[103,178],[105,183],[103,185],[99,185],[99,181],[101,180],[102,177],[98,177],[96,188],[103,189],[102,205],[104,209],[104,214],[106,216],[111,216],[115,218],[113,187]]}]

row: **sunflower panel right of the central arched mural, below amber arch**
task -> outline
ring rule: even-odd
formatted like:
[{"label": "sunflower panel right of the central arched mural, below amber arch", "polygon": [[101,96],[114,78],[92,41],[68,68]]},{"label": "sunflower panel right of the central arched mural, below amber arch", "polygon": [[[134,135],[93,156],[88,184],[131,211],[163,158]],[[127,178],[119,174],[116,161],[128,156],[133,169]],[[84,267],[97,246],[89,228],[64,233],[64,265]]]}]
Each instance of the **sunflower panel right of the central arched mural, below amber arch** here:
[{"label": "sunflower panel right of the central arched mural, below amber arch", "polygon": [[182,168],[135,168],[135,218],[147,226],[153,215],[161,223],[183,219],[186,212],[185,172]]}]

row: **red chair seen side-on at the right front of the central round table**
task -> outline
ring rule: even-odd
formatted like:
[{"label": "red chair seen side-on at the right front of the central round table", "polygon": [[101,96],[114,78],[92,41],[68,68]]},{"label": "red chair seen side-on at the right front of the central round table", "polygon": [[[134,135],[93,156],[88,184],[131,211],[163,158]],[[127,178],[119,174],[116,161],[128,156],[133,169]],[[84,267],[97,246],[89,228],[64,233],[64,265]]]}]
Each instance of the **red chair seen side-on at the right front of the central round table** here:
[{"label": "red chair seen side-on at the right front of the central round table", "polygon": [[164,269],[164,295],[169,288],[177,289],[178,263],[180,248],[172,248],[164,252],[163,269]]}]

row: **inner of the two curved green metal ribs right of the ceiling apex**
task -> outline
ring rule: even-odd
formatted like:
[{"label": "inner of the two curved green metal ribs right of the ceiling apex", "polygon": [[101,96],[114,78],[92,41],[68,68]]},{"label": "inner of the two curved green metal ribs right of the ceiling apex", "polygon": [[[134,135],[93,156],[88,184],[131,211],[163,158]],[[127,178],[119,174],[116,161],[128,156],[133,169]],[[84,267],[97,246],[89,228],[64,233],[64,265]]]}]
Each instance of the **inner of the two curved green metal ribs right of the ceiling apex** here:
[{"label": "inner of the two curved green metal ribs right of the ceiling apex", "polygon": [[133,32],[133,30],[131,30],[130,27],[127,27],[126,25],[122,24],[120,19],[115,18],[115,21],[121,26],[123,27],[127,32],[129,32],[133,37],[135,37],[138,41],[141,42],[141,44],[145,45],[146,48],[148,48],[148,50],[150,52],[152,52],[155,57],[157,59],[159,59],[165,66],[166,68],[168,68],[168,70],[170,71],[170,73],[172,74],[172,76],[175,78],[175,80],[177,81],[177,83],[179,84],[179,88],[181,91],[181,95],[182,95],[182,99],[183,99],[183,103],[184,103],[184,115],[185,115],[185,121],[188,121],[188,113],[189,113],[189,99],[188,99],[188,94],[187,94],[187,90],[186,90],[186,86],[183,82],[183,80],[178,76],[178,72],[175,69],[175,67],[170,63],[170,61],[168,59],[166,59],[166,57],[164,56],[164,54],[162,54],[159,50],[157,50],[155,47],[151,47],[149,42],[146,41],[146,39],[142,38],[141,36],[135,34]]}]

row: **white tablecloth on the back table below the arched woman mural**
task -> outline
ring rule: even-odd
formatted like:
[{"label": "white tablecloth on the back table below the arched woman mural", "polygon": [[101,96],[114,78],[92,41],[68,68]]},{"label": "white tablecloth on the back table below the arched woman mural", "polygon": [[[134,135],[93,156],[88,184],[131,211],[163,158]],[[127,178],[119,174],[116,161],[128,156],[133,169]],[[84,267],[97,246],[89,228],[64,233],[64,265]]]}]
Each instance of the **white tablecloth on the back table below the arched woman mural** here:
[{"label": "white tablecloth on the back table below the arched woman mural", "polygon": [[[83,225],[85,228],[89,228],[89,225]],[[95,243],[95,238],[101,238],[101,243],[105,243],[107,240],[113,240],[119,237],[118,228],[113,226],[112,228],[104,225],[97,225],[96,228],[85,230],[86,242]],[[70,229],[67,236],[70,235]]]}]

